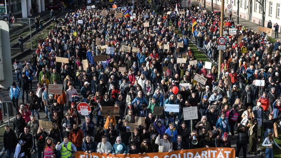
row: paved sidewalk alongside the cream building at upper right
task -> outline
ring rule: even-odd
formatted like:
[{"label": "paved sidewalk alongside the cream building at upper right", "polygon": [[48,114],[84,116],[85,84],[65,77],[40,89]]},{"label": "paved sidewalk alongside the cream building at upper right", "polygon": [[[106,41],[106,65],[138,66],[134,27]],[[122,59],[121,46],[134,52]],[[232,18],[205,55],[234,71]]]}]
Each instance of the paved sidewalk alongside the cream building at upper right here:
[{"label": "paved sidewalk alongside the cream building at upper right", "polygon": [[[241,3],[241,1],[240,1],[240,3]],[[192,1],[192,4],[194,4],[195,6],[199,6],[199,2],[196,2],[196,1]],[[206,3],[206,10],[208,10],[208,11],[212,10],[212,7],[207,5],[207,3]],[[215,5],[214,5],[214,11],[215,10],[218,10],[218,9],[216,9]],[[228,17],[228,12],[224,12],[224,16]],[[234,22],[237,22],[237,17],[235,15],[232,15],[231,18],[233,19]],[[250,22],[249,20],[243,19],[241,17],[239,17],[239,23],[242,23],[247,28],[253,29],[255,31],[258,30],[259,26],[261,26],[259,24],[254,23],[254,22]],[[280,32],[278,33],[278,36],[279,36],[279,38],[281,38],[281,33]],[[278,38],[275,38],[275,32],[274,31],[272,31],[272,35],[270,37],[272,37],[272,38],[274,38],[276,40],[278,39]]]}]

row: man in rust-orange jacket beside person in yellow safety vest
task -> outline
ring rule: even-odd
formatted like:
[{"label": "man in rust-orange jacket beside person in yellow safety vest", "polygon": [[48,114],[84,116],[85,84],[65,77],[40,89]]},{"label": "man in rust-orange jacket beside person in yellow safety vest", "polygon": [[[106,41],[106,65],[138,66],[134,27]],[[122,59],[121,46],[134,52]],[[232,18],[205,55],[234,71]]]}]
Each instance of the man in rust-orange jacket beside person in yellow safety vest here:
[{"label": "man in rust-orange jacket beside person in yellow safety vest", "polygon": [[83,131],[80,129],[80,127],[78,127],[76,123],[73,123],[73,129],[71,129],[69,132],[68,140],[76,146],[78,151],[84,151],[81,149],[82,142],[84,142],[83,138]]}]

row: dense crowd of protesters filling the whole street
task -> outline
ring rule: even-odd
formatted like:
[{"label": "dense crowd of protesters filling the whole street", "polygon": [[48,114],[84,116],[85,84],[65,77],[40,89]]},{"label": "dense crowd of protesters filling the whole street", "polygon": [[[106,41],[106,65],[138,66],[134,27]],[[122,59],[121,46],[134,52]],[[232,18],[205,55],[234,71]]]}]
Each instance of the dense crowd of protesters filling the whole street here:
[{"label": "dense crowd of protesters filling the whole street", "polygon": [[[30,61],[15,61],[17,83],[13,82],[9,95],[17,113],[13,129],[5,127],[8,158],[18,140],[19,144],[25,142],[22,148],[27,157],[37,150],[39,157],[55,154],[67,158],[71,151],[125,155],[231,147],[230,136],[237,139],[236,157],[241,148],[246,157],[248,144],[248,152],[257,151],[261,128],[265,153],[272,157],[281,117],[279,40],[272,43],[264,32],[258,34],[232,19],[226,19],[220,28],[220,17],[213,12],[195,5],[182,8],[177,0],[154,1],[158,13],[146,1],[117,1],[117,7],[125,10],[112,9],[109,2],[95,3],[92,9],[82,3],[85,6],[58,19],[48,37],[38,41]],[[176,8],[185,14],[178,14]],[[101,16],[102,10],[132,10],[136,16]],[[144,27],[145,22],[149,27]],[[237,34],[229,35],[229,28],[236,28]],[[218,72],[216,64],[208,70],[202,59],[195,58],[189,40],[194,38],[198,51],[217,63],[220,29],[226,31],[227,42]],[[96,38],[100,38],[99,45]],[[131,51],[125,52],[121,44]],[[104,45],[114,47],[113,54],[101,49]],[[139,51],[133,52],[132,47]],[[100,55],[106,55],[106,60],[96,62]],[[56,57],[69,62],[56,62]],[[186,63],[178,63],[178,58],[185,58]],[[87,70],[82,60],[88,61]],[[192,60],[198,64],[189,65]],[[120,72],[119,67],[126,71]],[[205,84],[194,79],[197,73],[207,79]],[[37,78],[36,91],[32,91],[33,77]],[[49,84],[62,84],[62,94],[48,94]],[[78,101],[91,106],[84,122],[76,109]],[[153,115],[154,107],[165,109],[169,104],[179,105],[180,112],[163,110],[162,115]],[[120,116],[101,116],[104,106],[118,106]],[[197,107],[198,119],[184,120],[183,108],[191,106]],[[52,129],[45,131],[39,125],[39,112],[52,121]],[[127,132],[126,126],[135,122],[135,116],[145,117],[145,125]],[[117,150],[119,144],[121,151]]]}]

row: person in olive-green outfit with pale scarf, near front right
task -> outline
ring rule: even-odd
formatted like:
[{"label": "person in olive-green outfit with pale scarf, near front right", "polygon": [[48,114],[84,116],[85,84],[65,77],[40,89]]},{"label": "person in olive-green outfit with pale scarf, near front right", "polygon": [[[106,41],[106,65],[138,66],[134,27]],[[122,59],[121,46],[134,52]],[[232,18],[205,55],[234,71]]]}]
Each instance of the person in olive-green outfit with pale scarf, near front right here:
[{"label": "person in olive-green outfit with pale scarf, near front right", "polygon": [[249,120],[250,123],[250,136],[249,136],[249,153],[255,154],[257,151],[257,144],[260,139],[260,126],[256,118],[253,121]]}]

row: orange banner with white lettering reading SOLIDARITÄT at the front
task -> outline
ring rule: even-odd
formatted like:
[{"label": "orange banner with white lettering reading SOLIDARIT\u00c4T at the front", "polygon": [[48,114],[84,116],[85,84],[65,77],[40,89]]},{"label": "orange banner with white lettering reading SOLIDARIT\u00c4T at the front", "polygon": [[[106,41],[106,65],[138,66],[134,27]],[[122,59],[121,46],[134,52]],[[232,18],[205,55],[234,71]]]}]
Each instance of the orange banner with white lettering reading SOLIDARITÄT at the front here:
[{"label": "orange banner with white lettering reading SOLIDARIT\u00c4T at the front", "polygon": [[199,148],[188,149],[183,151],[162,152],[162,153],[146,153],[146,154],[116,154],[106,155],[105,153],[86,154],[83,151],[75,153],[76,158],[234,158],[235,150],[233,148]]}]

